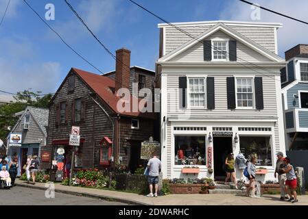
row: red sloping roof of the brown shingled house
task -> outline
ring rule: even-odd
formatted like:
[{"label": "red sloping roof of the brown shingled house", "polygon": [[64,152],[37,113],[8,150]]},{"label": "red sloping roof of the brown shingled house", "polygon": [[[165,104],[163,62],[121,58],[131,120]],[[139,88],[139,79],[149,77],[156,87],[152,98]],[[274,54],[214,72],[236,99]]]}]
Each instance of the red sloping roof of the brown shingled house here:
[{"label": "red sloping roof of the brown shingled house", "polygon": [[[110,109],[120,115],[133,116],[133,117],[144,117],[155,119],[154,113],[150,112],[119,112],[117,110],[117,103],[121,99],[114,93],[115,81],[109,77],[97,75],[94,73],[89,73],[85,70],[80,70],[78,68],[72,68],[72,70],[86,83],[86,86],[91,88],[109,107]],[[132,106],[132,95],[130,95],[130,105]],[[140,102],[141,99],[138,99]]]}]

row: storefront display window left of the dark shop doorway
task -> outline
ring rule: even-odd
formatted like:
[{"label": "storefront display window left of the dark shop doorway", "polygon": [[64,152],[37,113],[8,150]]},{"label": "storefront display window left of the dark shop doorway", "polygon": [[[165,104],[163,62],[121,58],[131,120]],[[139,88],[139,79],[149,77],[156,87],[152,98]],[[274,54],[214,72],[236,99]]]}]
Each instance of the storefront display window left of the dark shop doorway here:
[{"label": "storefront display window left of the dark shop doorway", "polygon": [[175,136],[176,165],[205,165],[205,136]]}]

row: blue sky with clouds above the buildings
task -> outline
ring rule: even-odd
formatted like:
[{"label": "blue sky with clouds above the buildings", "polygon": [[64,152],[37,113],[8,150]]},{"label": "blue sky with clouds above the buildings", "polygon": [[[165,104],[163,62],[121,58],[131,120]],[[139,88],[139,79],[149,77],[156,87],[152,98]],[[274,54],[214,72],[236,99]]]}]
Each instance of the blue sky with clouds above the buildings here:
[{"label": "blue sky with clouds above the buildings", "polygon": [[[45,17],[45,5],[53,3],[55,21],[47,21],[76,51],[102,72],[115,68],[115,60],[92,38],[69,10],[64,0],[27,0]],[[136,0],[170,22],[233,20],[250,21],[250,5],[237,0]],[[128,0],[70,0],[100,40],[113,53],[126,47],[132,51],[131,65],[154,69],[158,58],[158,28],[162,23]],[[308,21],[308,3],[298,0],[254,1]],[[0,0],[0,17],[8,0]],[[298,5],[301,5],[298,8]],[[308,27],[262,12],[261,21],[283,23],[279,30],[279,54],[298,43],[308,43]],[[296,34],[298,33],[298,34]],[[305,41],[306,40],[306,41]],[[0,90],[26,88],[55,92],[71,67],[98,73],[68,49],[21,0],[11,0],[0,27]]]}]

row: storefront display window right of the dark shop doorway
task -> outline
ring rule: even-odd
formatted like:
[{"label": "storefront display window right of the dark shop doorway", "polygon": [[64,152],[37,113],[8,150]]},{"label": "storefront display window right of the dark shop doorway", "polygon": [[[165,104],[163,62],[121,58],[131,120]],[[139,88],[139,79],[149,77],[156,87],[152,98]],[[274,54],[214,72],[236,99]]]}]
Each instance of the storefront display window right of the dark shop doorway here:
[{"label": "storefront display window right of the dark shop doorway", "polygon": [[241,153],[246,158],[257,155],[256,166],[272,166],[272,146],[270,136],[240,136]]}]

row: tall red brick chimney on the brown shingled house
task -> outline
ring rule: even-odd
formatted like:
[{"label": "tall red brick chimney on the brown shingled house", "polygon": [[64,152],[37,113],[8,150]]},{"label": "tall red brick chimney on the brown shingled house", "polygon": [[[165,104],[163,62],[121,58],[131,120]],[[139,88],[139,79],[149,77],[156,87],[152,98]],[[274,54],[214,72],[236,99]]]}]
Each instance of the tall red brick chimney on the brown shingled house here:
[{"label": "tall red brick chimney on the brown shingled house", "polygon": [[115,92],[120,88],[130,88],[130,51],[118,49],[115,61]]}]

